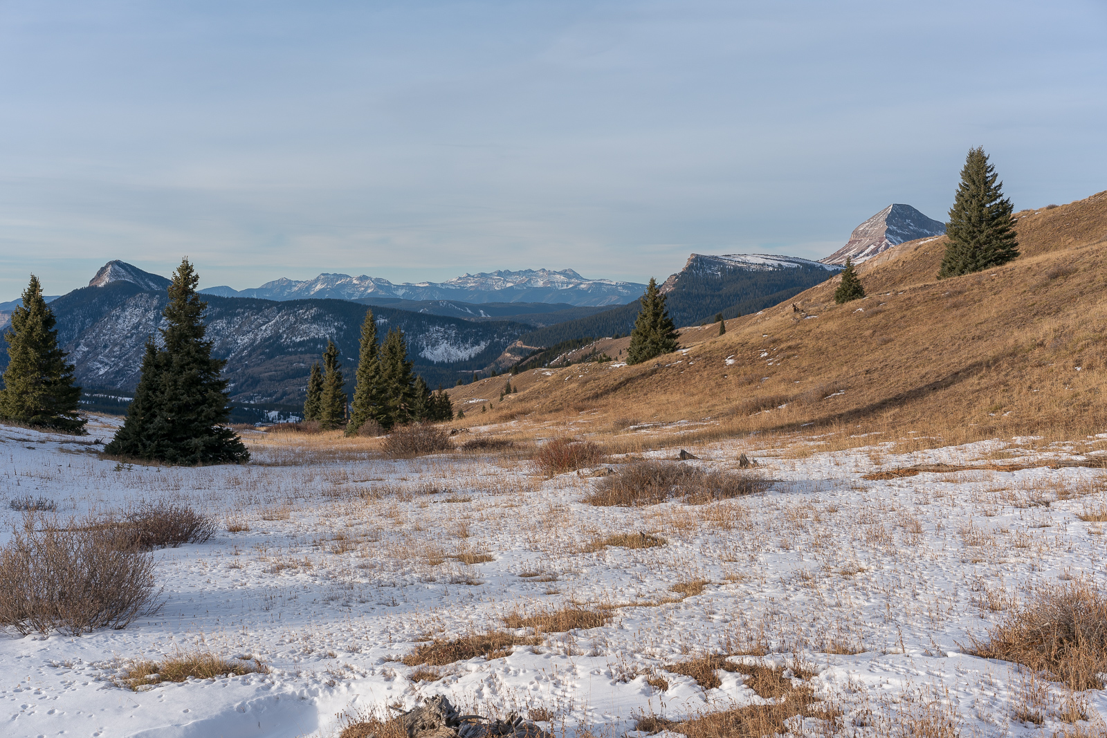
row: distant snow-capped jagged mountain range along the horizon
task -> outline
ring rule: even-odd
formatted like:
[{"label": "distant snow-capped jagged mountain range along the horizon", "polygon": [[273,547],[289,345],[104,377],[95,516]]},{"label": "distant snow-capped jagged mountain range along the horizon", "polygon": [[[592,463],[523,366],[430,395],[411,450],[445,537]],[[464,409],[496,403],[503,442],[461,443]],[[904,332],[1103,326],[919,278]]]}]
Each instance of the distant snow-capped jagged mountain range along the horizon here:
[{"label": "distant snow-capped jagged mountain range along the horizon", "polygon": [[623,304],[637,299],[644,284],[610,279],[584,279],[572,269],[497,270],[464,274],[445,282],[404,282],[393,284],[379,277],[351,277],[322,273],[311,280],[281,278],[259,288],[234,290],[229,287],[205,288],[200,292],[228,298],[262,298],[265,300],[298,300],[329,298],[366,300],[399,298],[404,300],[452,300],[485,302],[562,302],[570,305]]}]

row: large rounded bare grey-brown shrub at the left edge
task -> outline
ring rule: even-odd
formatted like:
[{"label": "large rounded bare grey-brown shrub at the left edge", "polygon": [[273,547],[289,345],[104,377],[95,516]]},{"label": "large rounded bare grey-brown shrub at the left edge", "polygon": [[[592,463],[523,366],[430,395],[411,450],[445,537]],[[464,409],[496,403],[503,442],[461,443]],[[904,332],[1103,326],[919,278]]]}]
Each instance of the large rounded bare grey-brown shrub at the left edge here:
[{"label": "large rounded bare grey-brown shrub at the left edge", "polygon": [[123,628],[162,609],[149,554],[111,528],[49,523],[28,516],[0,550],[0,627],[76,635]]}]

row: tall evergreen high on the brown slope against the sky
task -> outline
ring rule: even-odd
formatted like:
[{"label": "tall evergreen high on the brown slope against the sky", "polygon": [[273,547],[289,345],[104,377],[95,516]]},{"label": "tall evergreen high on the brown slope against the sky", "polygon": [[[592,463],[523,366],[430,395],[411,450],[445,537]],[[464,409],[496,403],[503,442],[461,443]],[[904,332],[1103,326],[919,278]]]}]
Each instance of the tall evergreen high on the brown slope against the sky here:
[{"label": "tall evergreen high on the brown slope against the sky", "polygon": [[945,257],[939,279],[1004,264],[1018,256],[1014,206],[1003,197],[1003,183],[981,147],[969,149],[961,184],[945,224]]}]

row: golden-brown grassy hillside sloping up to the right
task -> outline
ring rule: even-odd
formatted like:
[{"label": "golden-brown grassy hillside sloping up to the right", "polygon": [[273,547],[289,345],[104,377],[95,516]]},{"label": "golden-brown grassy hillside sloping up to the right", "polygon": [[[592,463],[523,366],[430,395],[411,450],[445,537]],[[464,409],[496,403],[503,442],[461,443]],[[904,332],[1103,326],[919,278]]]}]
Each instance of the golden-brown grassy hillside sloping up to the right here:
[{"label": "golden-brown grassy hillside sloping up to the right", "polygon": [[861,266],[863,301],[835,305],[835,279],[727,321],[726,335],[684,330],[686,355],[527,372],[504,402],[506,377],[451,394],[492,401],[490,414],[467,405],[464,424],[527,416],[579,422],[575,432],[704,418],[727,434],[805,424],[1105,430],[1107,193],[1017,215],[1023,256],[999,269],[939,281],[944,238],[912,241]]}]

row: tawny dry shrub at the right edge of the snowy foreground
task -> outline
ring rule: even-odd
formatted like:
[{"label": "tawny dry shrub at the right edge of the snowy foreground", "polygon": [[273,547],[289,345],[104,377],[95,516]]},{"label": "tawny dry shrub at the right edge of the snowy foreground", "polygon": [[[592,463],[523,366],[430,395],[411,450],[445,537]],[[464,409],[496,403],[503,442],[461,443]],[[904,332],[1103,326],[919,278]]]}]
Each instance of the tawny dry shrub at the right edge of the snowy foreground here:
[{"label": "tawny dry shrub at the right edge of the snowy foreground", "polygon": [[1034,599],[968,653],[1043,672],[1074,690],[1103,689],[1107,672],[1107,595],[1086,581],[1038,588]]}]

